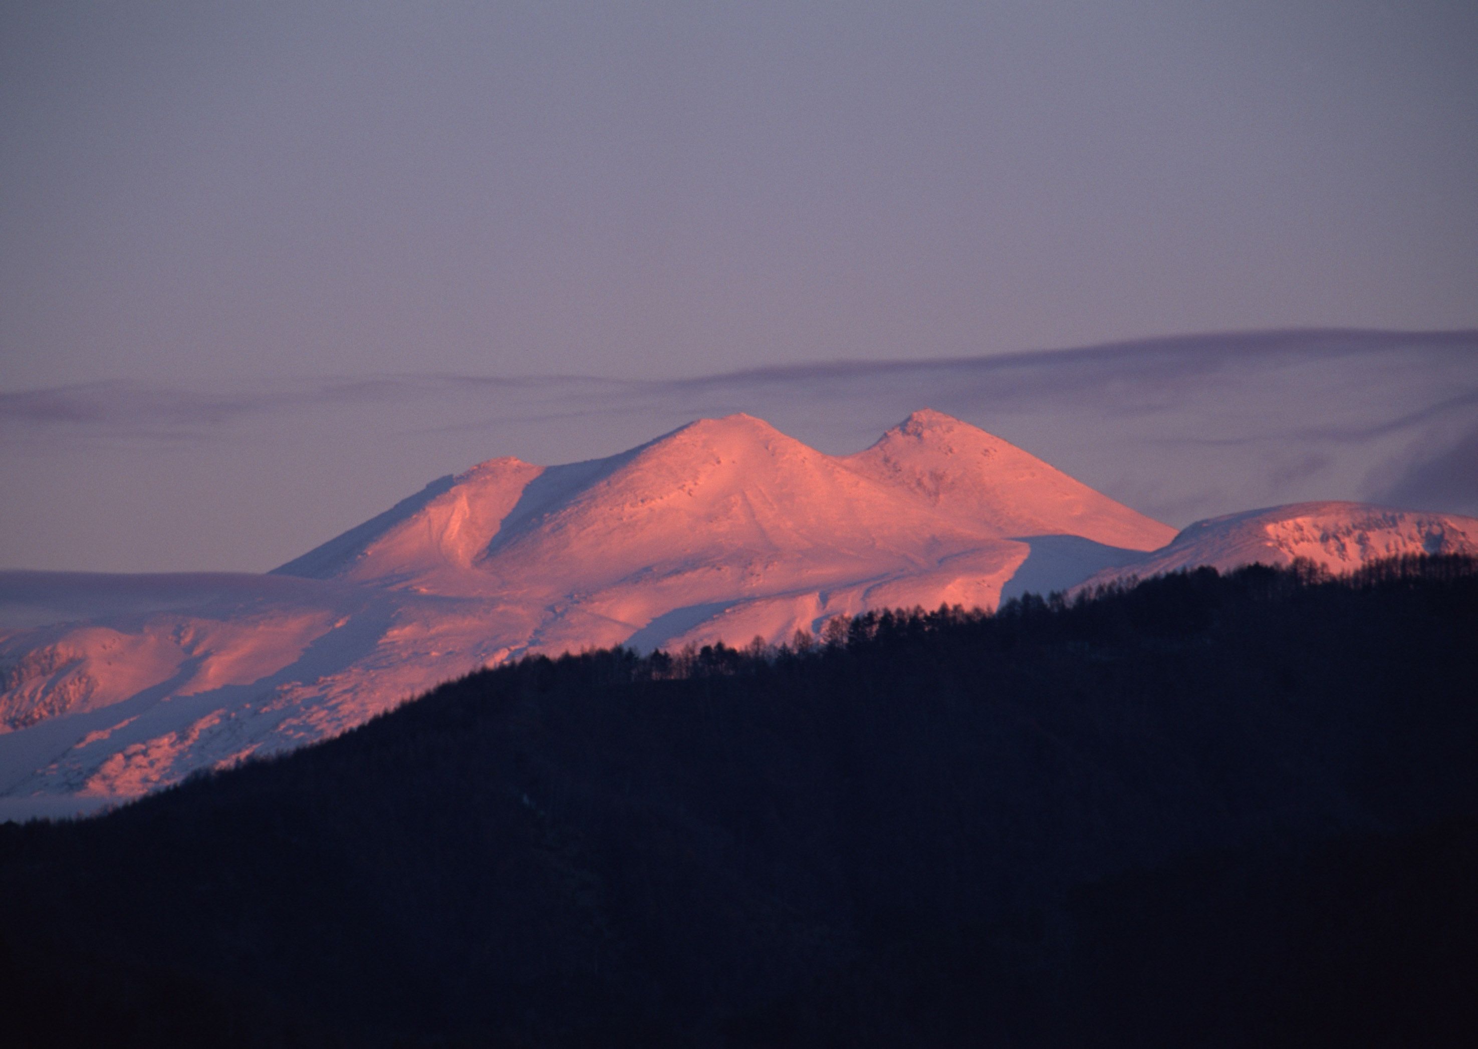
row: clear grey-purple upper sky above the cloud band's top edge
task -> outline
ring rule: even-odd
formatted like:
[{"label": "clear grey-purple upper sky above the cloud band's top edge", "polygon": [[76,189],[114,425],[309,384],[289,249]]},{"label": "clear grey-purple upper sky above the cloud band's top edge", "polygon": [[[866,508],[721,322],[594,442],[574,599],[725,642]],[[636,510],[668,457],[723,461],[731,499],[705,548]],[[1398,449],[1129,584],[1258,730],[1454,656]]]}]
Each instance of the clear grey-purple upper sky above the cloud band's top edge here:
[{"label": "clear grey-purple upper sky above the cloud band's top edge", "polygon": [[1478,325],[1471,3],[13,3],[4,387]]}]

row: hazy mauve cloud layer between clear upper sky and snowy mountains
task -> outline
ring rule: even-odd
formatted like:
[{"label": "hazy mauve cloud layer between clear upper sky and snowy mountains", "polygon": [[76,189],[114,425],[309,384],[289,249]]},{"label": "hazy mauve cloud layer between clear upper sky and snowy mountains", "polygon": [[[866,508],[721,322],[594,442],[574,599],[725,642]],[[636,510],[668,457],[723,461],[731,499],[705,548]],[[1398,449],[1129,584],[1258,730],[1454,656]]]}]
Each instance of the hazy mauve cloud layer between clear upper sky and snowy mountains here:
[{"label": "hazy mauve cloud layer between clear upper sky and snowy mountains", "polygon": [[[701,378],[454,374],[0,394],[0,563],[266,569],[497,455],[609,455],[749,412],[831,454],[956,415],[1142,513],[1301,499],[1478,513],[1478,332],[1302,331],[760,368]],[[168,510],[164,510],[168,507]]]}]

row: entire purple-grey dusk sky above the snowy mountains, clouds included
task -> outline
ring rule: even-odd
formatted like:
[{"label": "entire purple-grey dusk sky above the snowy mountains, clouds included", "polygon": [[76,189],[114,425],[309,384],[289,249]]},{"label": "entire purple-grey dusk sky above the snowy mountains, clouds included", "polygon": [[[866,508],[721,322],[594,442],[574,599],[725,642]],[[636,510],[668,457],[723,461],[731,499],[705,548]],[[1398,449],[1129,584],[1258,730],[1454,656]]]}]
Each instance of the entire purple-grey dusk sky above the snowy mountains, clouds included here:
[{"label": "entire purple-grey dusk sky above the snowy mountains, clouds included", "polygon": [[[924,403],[868,362],[949,411],[940,359],[1478,329],[1474,55],[1478,9],[1429,1],[6,4],[0,566],[265,569],[473,461],[726,406],[856,451]],[[1176,343],[1160,440],[1287,442],[1216,483],[1041,393],[1132,386],[1123,353],[955,411],[1175,524],[1475,513],[1463,338],[1236,381]],[[551,375],[600,381],[488,383]]]}]

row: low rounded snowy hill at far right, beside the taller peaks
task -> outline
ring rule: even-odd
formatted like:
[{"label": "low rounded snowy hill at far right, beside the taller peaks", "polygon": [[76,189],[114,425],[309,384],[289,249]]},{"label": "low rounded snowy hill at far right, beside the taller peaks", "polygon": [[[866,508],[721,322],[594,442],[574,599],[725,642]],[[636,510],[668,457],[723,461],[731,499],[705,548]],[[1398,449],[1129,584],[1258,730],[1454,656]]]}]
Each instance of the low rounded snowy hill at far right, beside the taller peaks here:
[{"label": "low rounded snowy hill at far right, beside the taller peaks", "polygon": [[1080,588],[1203,564],[1227,572],[1255,563],[1286,566],[1296,558],[1339,575],[1403,554],[1478,557],[1478,519],[1335,501],[1249,510],[1196,522],[1163,550],[1104,569]]}]

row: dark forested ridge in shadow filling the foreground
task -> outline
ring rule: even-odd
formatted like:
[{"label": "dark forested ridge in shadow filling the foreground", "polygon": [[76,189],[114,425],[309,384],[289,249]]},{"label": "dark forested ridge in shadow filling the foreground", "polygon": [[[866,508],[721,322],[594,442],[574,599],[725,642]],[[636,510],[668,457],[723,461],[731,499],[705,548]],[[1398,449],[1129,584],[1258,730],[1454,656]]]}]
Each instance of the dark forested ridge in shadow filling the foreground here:
[{"label": "dark forested ridge in shadow filling the foreground", "polygon": [[1478,564],[473,674],[0,827],[9,1045],[1474,1045]]}]

